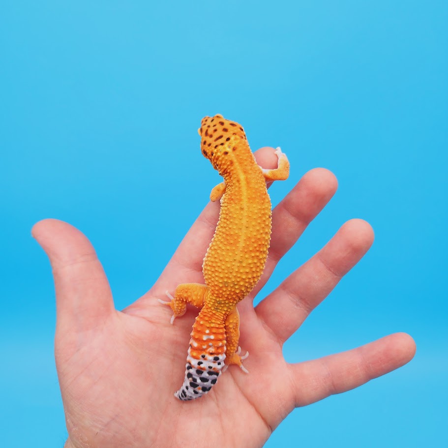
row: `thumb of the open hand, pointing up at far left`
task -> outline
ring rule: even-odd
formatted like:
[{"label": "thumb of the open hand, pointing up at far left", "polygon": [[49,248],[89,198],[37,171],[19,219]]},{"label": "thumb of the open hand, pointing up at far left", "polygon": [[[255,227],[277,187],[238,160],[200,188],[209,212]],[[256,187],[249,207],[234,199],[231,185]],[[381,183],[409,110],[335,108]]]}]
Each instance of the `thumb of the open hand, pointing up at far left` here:
[{"label": "thumb of the open hand, pointing up at far left", "polygon": [[66,222],[45,219],[32,236],[47,253],[56,288],[58,325],[91,329],[114,311],[104,270],[89,240]]}]

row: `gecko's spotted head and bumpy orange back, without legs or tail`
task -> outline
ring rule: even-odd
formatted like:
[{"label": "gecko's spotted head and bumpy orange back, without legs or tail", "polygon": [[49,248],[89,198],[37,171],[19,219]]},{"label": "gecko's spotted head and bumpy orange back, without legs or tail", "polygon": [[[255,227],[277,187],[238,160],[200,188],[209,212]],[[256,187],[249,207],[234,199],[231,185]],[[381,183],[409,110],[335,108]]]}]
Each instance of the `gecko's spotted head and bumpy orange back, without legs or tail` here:
[{"label": "gecko's spotted head and bumpy orange back, without legs or tail", "polygon": [[[229,314],[263,273],[271,232],[271,203],[266,181],[242,127],[220,115],[206,117],[201,149],[224,178],[219,221],[204,259],[209,295],[205,304]],[[211,137],[210,137],[211,134]]]}]

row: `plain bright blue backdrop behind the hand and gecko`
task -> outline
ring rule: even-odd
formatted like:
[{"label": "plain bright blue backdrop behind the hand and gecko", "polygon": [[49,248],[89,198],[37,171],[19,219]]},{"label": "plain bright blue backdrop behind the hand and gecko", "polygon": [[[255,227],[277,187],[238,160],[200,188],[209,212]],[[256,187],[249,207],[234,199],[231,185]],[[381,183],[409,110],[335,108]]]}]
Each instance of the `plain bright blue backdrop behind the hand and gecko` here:
[{"label": "plain bright blue backdrop behind the hand and gecko", "polygon": [[316,358],[394,331],[402,369],[293,412],[266,447],[447,443],[446,1],[4,1],[0,6],[1,407],[5,447],[61,447],[55,303],[34,222],[93,242],[117,308],[156,280],[218,175],[204,115],[281,146],[339,190],[268,292],[347,219],[376,240],[285,346]]}]

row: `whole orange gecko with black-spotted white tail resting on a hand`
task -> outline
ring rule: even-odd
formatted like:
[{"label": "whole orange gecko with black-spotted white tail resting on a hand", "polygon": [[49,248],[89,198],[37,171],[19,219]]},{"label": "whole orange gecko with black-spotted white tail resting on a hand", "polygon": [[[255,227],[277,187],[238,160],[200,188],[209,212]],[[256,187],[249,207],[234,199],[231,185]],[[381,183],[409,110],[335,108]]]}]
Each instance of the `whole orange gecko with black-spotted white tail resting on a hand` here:
[{"label": "whole orange gecko with black-spotted white tail resting on a hand", "polygon": [[[248,373],[240,356],[237,303],[257,284],[265,268],[271,233],[271,204],[266,181],[289,176],[286,155],[277,148],[278,167],[257,165],[243,128],[221,115],[205,117],[199,129],[201,151],[224,182],[216,185],[211,201],[221,200],[219,221],[204,258],[205,285],[184,283],[170,301],[160,300],[176,317],[186,303],[201,308],[191,332],[185,379],[175,393],[179,400],[199,398],[216,383],[221,371],[237,364]],[[224,369],[223,369],[224,367]]]}]

